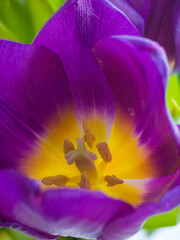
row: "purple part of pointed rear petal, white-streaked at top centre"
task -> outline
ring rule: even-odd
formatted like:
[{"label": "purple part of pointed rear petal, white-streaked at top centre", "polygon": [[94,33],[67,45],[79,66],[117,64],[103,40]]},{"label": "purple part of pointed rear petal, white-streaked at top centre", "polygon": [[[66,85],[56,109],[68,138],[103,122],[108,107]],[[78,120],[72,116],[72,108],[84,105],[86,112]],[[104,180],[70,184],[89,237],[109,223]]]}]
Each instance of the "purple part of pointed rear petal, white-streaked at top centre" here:
[{"label": "purple part of pointed rear petal, white-streaked at top centre", "polygon": [[34,41],[62,60],[80,120],[97,111],[104,118],[113,116],[111,91],[91,52],[96,41],[113,34],[137,35],[137,31],[106,0],[69,0]]}]

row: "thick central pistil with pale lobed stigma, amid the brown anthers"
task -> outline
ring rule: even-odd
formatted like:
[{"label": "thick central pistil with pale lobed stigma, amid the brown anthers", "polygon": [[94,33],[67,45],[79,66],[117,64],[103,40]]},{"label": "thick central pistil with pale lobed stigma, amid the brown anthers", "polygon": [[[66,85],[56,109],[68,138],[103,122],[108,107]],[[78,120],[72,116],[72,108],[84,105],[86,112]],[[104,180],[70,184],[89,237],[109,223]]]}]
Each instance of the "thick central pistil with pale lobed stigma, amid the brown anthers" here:
[{"label": "thick central pistil with pale lobed stigma, amid the brown anthers", "polygon": [[94,160],[97,159],[96,154],[86,150],[84,139],[77,140],[77,149],[69,151],[65,154],[67,164],[71,165],[75,162],[78,170],[83,173],[86,172],[88,178],[97,178],[97,171]]}]

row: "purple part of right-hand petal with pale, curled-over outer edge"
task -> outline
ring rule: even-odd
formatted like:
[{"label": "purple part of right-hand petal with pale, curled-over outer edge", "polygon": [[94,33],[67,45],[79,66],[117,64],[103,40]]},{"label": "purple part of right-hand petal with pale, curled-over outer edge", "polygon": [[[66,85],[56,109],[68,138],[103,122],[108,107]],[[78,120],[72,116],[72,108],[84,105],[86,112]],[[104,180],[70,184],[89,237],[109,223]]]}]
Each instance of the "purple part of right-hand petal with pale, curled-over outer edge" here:
[{"label": "purple part of right-hand petal with pale, curled-over outer edge", "polygon": [[154,176],[174,173],[180,165],[179,133],[165,105],[164,52],[154,42],[117,36],[97,43],[94,53],[113,91],[115,112],[133,122],[139,144],[150,152]]}]

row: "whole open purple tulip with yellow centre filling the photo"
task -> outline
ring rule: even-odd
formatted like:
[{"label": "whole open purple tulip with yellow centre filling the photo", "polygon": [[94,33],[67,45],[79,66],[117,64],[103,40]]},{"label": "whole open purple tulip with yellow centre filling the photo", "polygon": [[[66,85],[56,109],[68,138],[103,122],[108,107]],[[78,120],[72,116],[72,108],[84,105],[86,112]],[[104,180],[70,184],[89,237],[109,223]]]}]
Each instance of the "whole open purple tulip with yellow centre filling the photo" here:
[{"label": "whole open purple tulip with yellow centre filling the photo", "polygon": [[68,0],[32,45],[0,41],[0,222],[120,240],[180,203],[167,59],[105,0]]}]

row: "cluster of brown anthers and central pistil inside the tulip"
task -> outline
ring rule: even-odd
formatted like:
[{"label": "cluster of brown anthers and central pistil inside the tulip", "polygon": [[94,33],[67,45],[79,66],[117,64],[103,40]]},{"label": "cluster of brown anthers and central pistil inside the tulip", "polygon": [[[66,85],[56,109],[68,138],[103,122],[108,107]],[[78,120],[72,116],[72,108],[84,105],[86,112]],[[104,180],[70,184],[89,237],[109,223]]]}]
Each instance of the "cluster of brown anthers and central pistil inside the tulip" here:
[{"label": "cluster of brown anthers and central pistil inside the tulip", "polygon": [[[103,171],[107,164],[112,161],[112,155],[108,144],[100,142],[96,144],[98,155],[101,158],[101,163],[97,165],[95,162],[98,159],[97,155],[86,149],[86,145],[91,149],[96,140],[95,136],[90,131],[88,125],[83,121],[84,137],[77,138],[77,147],[75,149],[73,143],[69,139],[64,140],[63,152],[67,165],[75,165],[79,171],[79,182],[76,182],[80,188],[97,188],[102,182],[106,182],[108,187],[124,183],[115,175],[103,176]],[[42,183],[50,186],[65,186],[68,182],[76,181],[77,178],[70,178],[65,175],[49,176],[42,179]]]}]

